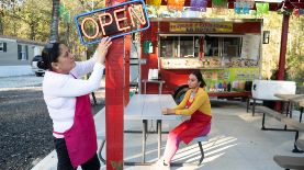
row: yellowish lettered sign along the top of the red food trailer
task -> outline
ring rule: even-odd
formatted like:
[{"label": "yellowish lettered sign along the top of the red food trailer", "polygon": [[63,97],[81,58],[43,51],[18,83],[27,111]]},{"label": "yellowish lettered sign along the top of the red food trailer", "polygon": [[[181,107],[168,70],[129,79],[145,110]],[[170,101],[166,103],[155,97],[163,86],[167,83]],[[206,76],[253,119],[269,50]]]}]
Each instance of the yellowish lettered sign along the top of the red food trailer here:
[{"label": "yellowish lettered sign along the top of the red food trailer", "polygon": [[205,32],[205,33],[230,33],[233,23],[198,22],[198,23],[170,23],[170,32]]}]

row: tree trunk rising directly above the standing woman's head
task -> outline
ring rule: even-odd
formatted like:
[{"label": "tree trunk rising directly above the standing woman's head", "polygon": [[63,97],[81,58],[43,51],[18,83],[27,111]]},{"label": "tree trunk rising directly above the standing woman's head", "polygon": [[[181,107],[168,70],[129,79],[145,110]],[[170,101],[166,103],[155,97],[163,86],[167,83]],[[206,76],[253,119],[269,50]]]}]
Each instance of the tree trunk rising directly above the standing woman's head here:
[{"label": "tree trunk rising directly above the standing woman's head", "polygon": [[50,37],[49,37],[50,43],[58,42],[59,3],[60,3],[60,0],[53,0]]}]

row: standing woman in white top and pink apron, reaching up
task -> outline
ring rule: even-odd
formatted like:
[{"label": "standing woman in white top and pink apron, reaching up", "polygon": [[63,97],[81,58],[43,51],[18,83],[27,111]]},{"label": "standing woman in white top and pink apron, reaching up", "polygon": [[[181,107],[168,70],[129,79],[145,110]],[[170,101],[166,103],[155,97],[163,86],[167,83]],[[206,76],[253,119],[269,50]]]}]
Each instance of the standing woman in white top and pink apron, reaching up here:
[{"label": "standing woman in white top and pink apron, reaching up", "polygon": [[[99,170],[97,135],[89,93],[97,90],[104,70],[109,37],[101,39],[93,57],[75,61],[69,48],[60,43],[47,44],[37,66],[45,69],[43,94],[50,118],[58,156],[58,170]],[[92,72],[88,80],[79,79]]]}]

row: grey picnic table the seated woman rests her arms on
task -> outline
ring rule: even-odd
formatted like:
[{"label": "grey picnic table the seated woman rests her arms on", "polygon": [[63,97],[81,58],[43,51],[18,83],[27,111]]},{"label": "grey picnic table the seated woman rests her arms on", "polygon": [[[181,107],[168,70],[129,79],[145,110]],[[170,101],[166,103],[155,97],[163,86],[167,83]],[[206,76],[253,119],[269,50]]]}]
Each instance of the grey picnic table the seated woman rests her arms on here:
[{"label": "grey picnic table the seated woman rests her arms on", "polygon": [[[162,121],[177,121],[181,120],[179,115],[162,115],[162,107],[174,107],[176,102],[170,94],[135,94],[131,98],[130,103],[124,111],[124,120],[142,121],[143,122],[143,149],[142,149],[142,163],[145,163],[146,139],[148,132],[148,121],[157,122],[158,134],[158,159],[160,158],[161,150],[161,122]],[[132,131],[125,131],[132,133]],[[134,163],[133,163],[134,165]]]}]

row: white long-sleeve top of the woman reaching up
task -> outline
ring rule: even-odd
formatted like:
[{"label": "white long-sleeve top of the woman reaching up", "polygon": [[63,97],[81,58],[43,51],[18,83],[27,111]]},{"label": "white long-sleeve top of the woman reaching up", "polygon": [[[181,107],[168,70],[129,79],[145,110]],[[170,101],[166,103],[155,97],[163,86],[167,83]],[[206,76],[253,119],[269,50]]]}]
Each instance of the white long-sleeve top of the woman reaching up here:
[{"label": "white long-sleeve top of the woman reaching up", "polygon": [[[43,80],[43,94],[54,132],[64,133],[74,124],[76,97],[89,94],[100,86],[104,66],[95,63],[94,56],[87,60],[76,63],[70,75],[46,71]],[[88,72],[92,72],[88,80],[78,79]],[[77,79],[76,79],[76,78]],[[54,134],[57,138],[63,135]]]}]

